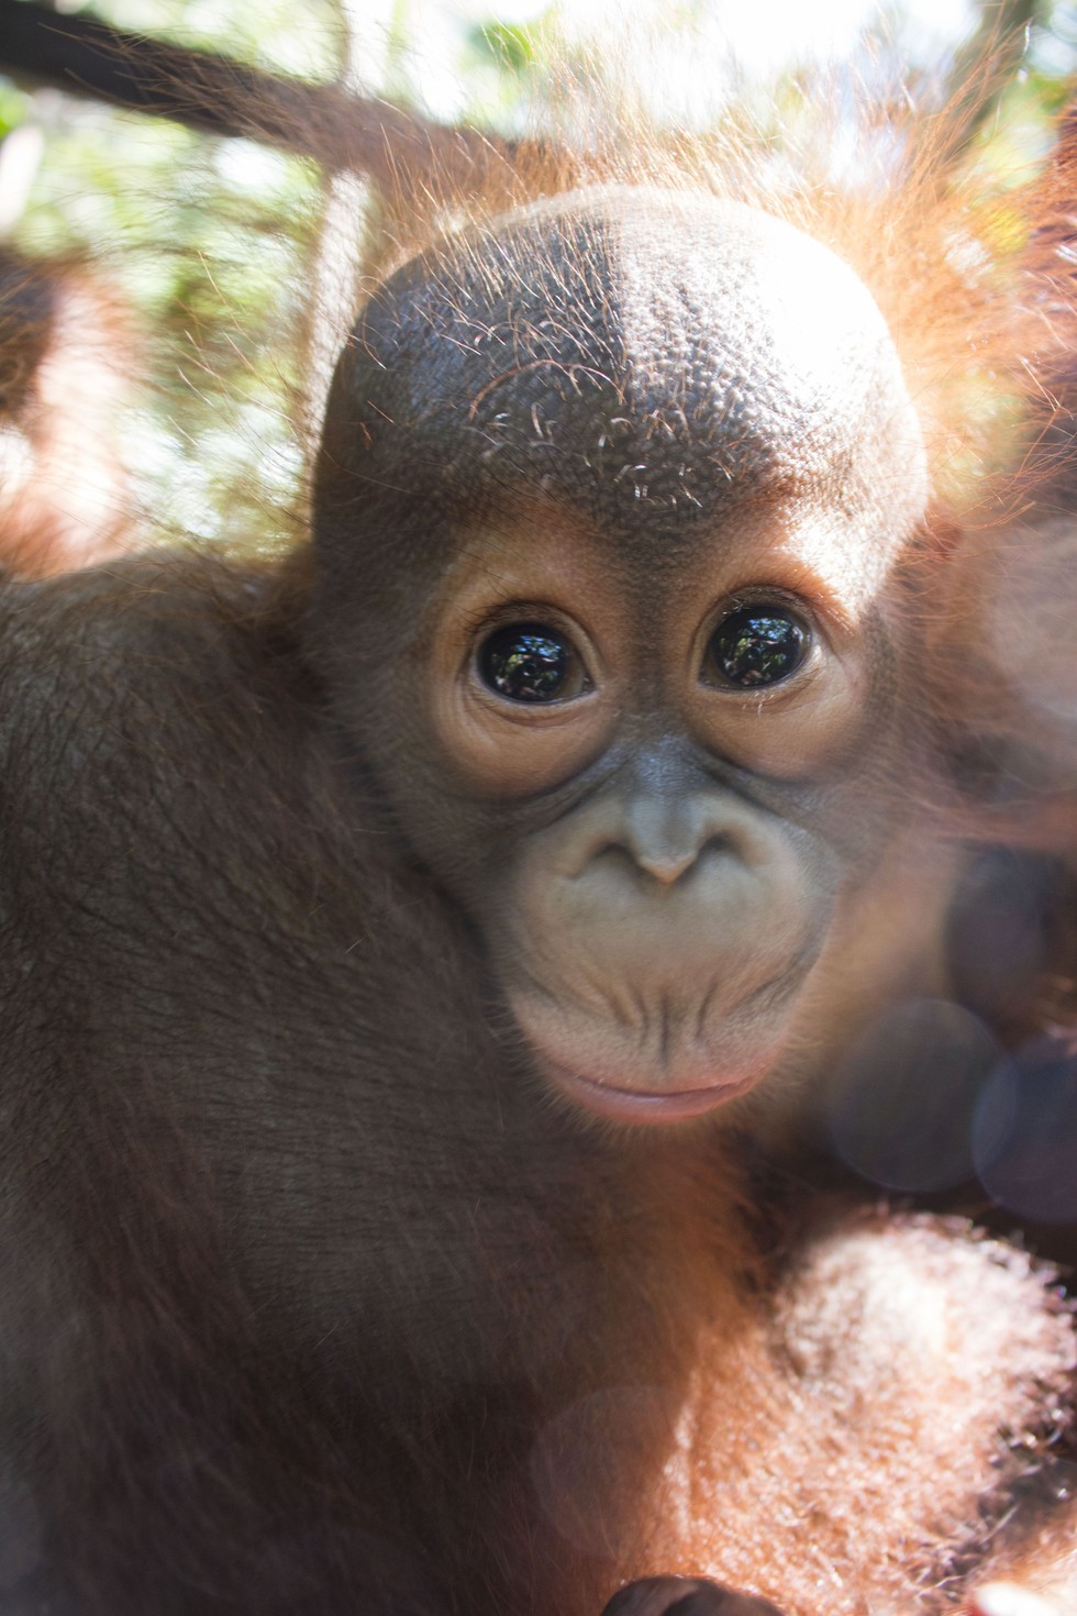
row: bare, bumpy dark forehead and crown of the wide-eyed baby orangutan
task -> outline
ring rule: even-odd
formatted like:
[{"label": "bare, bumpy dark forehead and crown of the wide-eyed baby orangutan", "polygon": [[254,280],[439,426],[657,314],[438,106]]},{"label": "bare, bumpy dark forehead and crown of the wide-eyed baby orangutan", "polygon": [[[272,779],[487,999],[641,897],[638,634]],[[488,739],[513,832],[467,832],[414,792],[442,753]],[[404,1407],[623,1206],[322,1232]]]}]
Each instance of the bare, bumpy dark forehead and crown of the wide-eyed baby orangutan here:
[{"label": "bare, bumpy dark forehead and crown of the wide-eyed baby orangutan", "polygon": [[922,504],[869,292],[738,204],[606,189],[538,205],[409,267],[360,349],[370,430],[407,419],[442,478],[515,482],[651,533],[741,499],[885,504],[891,522]]}]

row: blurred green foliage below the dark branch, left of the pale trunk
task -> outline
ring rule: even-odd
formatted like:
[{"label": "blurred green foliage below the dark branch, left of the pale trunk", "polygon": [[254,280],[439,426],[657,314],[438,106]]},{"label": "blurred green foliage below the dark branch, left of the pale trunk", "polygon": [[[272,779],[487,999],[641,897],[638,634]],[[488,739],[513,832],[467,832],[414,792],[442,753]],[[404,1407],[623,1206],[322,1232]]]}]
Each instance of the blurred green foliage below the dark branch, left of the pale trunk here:
[{"label": "blurred green foliage below the dark branch, left of the pale trunk", "polygon": [[[310,165],[178,124],[69,107],[19,246],[87,257],[134,312],[152,386],[131,422],[140,504],[161,524],[265,545],[299,494]],[[244,496],[245,491],[245,496]]]}]

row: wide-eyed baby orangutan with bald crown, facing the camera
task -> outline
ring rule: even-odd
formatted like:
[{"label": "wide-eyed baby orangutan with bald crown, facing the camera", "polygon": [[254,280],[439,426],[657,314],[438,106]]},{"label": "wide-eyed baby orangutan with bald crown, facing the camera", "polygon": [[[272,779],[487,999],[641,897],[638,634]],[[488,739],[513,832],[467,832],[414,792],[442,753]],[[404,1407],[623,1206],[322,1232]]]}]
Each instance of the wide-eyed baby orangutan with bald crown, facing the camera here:
[{"label": "wide-eyed baby orangutan with bald crown, facing the camera", "polygon": [[1072,1605],[1051,1277],[762,1162],[946,992],[932,407],[594,186],[384,280],[307,549],[8,583],[3,1616]]}]

